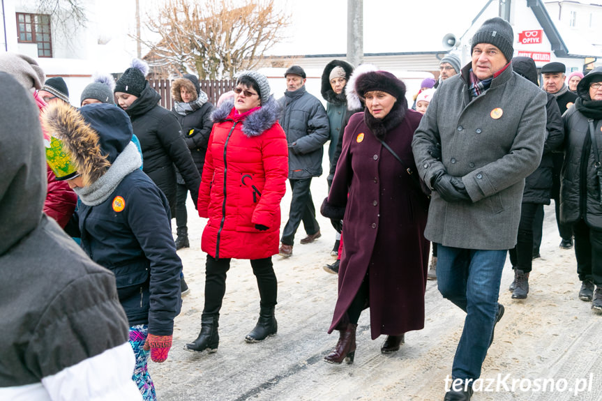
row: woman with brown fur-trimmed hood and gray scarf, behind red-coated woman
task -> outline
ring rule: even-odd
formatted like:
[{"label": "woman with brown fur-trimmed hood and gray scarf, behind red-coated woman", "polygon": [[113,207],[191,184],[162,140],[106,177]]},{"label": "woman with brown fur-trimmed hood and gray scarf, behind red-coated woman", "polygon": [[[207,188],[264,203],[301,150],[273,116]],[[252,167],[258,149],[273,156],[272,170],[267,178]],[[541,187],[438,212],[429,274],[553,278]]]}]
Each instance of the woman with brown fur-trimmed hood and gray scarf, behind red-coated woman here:
[{"label": "woman with brown fur-trimmed hood and gray scarf, behind red-coated woman", "polygon": [[[202,176],[207,143],[209,143],[209,135],[213,127],[213,121],[211,121],[213,105],[208,101],[207,94],[201,90],[197,77],[190,74],[185,74],[182,78],[174,80],[172,98],[174,99],[172,113],[182,127],[186,146],[188,146],[195,166]],[[186,220],[188,220],[188,213],[186,213],[188,187],[180,172],[176,172],[176,176],[176,224],[178,227],[176,231],[178,234],[176,249],[180,249],[190,246],[188,227],[186,226]]]}]

